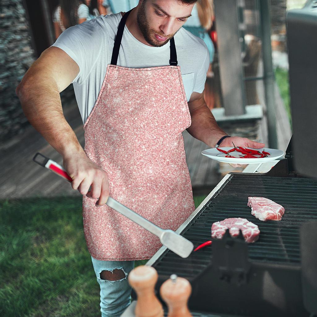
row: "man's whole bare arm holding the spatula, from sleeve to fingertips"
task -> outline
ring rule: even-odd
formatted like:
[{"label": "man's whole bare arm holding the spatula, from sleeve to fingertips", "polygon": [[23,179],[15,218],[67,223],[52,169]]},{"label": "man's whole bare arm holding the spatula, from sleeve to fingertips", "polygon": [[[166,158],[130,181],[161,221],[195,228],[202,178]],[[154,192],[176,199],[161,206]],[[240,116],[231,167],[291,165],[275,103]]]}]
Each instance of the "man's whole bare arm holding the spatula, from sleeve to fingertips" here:
[{"label": "man's whole bare arm holding the spatula, from sleeve to fingertips", "polygon": [[[79,66],[63,50],[46,49],[32,64],[16,88],[23,112],[34,128],[63,157],[63,165],[73,179],[73,189],[90,198],[107,202],[107,172],[89,160],[74,131],[66,121],[60,92],[72,83]],[[92,186],[92,190],[88,189]]]}]

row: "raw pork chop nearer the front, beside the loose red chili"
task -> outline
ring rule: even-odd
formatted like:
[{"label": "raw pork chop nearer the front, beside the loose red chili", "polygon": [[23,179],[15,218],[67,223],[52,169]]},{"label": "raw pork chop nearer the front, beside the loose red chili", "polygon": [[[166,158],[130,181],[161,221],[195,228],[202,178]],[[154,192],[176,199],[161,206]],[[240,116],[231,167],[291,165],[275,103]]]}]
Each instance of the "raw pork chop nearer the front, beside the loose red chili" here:
[{"label": "raw pork chop nearer the front, beside the loose red chili", "polygon": [[260,234],[259,227],[245,218],[227,218],[212,224],[211,237],[221,239],[227,229],[232,237],[238,236],[241,229],[244,241],[248,243],[256,242]]}]

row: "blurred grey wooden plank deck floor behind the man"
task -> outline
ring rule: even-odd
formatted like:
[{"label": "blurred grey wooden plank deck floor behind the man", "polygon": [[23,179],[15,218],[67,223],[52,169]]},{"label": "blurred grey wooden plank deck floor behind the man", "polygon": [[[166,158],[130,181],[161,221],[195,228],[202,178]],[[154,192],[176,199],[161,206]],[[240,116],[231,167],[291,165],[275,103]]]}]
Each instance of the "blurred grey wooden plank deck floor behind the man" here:
[{"label": "blurred grey wooden plank deck floor behind the man", "polygon": [[[258,92],[260,101],[263,102],[264,94],[261,86],[259,83]],[[277,87],[275,89],[275,100],[279,148],[285,150],[291,132]],[[81,145],[84,146],[84,131],[76,101],[69,103],[63,110],[66,120],[75,131]],[[260,126],[260,138],[264,143],[267,143],[265,116]],[[217,162],[201,154],[201,151],[208,148],[203,142],[194,139],[187,131],[184,131],[183,137],[194,195],[207,194],[220,180]],[[0,146],[0,151],[2,153],[0,157],[2,166],[0,199],[35,196],[81,197],[81,194],[73,190],[64,179],[33,162],[36,152],[41,152],[62,165],[60,154],[32,126],[23,135],[17,136],[9,143]]]}]

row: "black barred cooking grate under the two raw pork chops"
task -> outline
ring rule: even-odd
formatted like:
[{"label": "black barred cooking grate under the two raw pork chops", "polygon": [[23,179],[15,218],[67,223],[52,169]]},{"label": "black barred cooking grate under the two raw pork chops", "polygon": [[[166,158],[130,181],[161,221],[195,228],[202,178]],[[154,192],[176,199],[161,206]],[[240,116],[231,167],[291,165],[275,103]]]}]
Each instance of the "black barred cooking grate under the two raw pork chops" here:
[{"label": "black barred cooking grate under the two raw pork chops", "polygon": [[[262,222],[251,215],[248,197],[266,197],[281,204],[281,221]],[[260,238],[248,245],[250,262],[300,265],[299,228],[317,220],[317,180],[232,174],[181,233],[194,246],[211,238],[211,224],[225,218],[241,217],[259,226]],[[199,274],[210,263],[212,246],[181,259],[167,250],[152,265],[159,274],[176,273],[185,278]]]}]

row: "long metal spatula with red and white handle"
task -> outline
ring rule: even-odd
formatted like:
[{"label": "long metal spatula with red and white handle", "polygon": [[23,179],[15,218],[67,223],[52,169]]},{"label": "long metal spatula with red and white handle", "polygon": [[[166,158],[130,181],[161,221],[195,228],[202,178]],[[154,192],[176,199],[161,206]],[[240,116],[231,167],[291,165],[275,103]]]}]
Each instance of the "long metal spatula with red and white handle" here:
[{"label": "long metal spatula with red and white handle", "polygon": [[[72,178],[67,174],[67,172],[61,165],[45,157],[41,153],[36,153],[33,160],[39,165],[46,167],[49,170],[60,175],[61,177],[65,178],[69,182],[72,182]],[[155,236],[158,236],[161,243],[166,248],[175,252],[177,255],[181,256],[182,258],[188,257],[191,254],[191,251],[194,249],[193,243],[185,239],[183,236],[179,235],[178,233],[170,229],[166,230],[156,226],[154,223],[148,221],[146,218],[140,216],[139,214],[132,211],[128,207],[124,206],[123,204],[120,204],[115,199],[109,197],[106,204],[109,207],[113,208],[114,210],[118,211],[121,215],[132,220],[134,223],[137,223],[142,228],[150,231]]]}]

